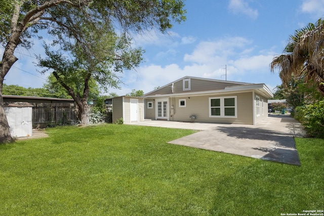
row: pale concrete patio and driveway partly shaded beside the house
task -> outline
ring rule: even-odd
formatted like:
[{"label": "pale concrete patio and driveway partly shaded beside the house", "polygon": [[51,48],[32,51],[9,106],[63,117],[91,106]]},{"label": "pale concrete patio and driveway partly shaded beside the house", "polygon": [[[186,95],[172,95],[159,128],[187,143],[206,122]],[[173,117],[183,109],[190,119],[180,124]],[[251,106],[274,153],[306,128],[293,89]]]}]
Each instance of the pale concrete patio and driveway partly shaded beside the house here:
[{"label": "pale concrete patio and driveway partly shaded beside the house", "polygon": [[300,123],[289,115],[269,115],[256,125],[158,120],[132,124],[195,129],[200,132],[169,143],[294,165],[300,165],[294,137],[305,136]]}]

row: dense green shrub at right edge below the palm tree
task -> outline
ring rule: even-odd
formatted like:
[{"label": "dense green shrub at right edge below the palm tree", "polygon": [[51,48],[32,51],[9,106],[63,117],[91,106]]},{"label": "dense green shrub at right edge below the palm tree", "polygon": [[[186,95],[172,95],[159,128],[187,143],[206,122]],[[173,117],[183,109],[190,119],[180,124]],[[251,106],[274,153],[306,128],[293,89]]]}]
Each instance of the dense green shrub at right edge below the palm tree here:
[{"label": "dense green shrub at right edge below the palm tree", "polygon": [[324,138],[324,101],[297,107],[294,117],[305,127],[308,136]]}]

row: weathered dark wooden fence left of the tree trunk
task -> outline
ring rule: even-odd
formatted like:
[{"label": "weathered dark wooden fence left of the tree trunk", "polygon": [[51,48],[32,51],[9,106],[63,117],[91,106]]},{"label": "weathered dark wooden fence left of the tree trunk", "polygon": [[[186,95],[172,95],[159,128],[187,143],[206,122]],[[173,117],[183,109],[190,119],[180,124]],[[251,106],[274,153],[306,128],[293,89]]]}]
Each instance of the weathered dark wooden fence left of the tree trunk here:
[{"label": "weathered dark wooden fence left of the tree trunk", "polygon": [[55,106],[55,104],[37,104],[32,108],[33,128],[76,124],[78,122],[77,106]]}]

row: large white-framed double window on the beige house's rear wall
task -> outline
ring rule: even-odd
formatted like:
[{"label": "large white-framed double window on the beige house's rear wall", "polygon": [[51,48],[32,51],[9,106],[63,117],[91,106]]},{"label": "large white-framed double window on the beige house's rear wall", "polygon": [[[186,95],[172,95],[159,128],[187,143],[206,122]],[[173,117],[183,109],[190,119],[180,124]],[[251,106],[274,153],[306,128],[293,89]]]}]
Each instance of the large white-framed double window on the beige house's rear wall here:
[{"label": "large white-framed double window on the beige house's rear wall", "polygon": [[237,118],[237,96],[209,98],[209,117]]}]

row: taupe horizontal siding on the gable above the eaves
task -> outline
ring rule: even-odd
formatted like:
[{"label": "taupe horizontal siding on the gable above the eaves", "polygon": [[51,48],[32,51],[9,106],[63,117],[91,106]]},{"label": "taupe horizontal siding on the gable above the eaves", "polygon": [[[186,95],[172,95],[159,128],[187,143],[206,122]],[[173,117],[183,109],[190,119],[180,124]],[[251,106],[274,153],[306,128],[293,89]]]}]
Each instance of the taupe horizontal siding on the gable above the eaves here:
[{"label": "taupe horizontal siding on the gable above the eaves", "polygon": [[[179,94],[179,93],[221,90],[221,89],[224,89],[225,87],[231,87],[231,86],[235,86],[235,85],[240,85],[240,84],[190,78],[190,90],[183,91],[183,80],[181,79],[174,83],[173,93]],[[172,84],[170,84],[162,89],[159,89],[155,92],[152,92],[151,94],[149,94],[147,96],[168,95],[168,94],[172,94]]]}]

